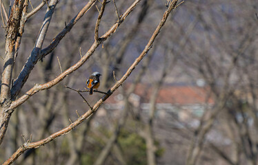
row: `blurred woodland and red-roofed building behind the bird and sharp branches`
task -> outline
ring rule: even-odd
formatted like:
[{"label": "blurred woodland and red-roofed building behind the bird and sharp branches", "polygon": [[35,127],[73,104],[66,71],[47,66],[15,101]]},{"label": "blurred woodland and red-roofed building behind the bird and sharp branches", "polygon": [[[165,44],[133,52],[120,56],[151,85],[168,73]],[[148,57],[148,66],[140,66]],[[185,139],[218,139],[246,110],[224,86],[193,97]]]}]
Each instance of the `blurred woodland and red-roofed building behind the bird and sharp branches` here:
[{"label": "blurred woodland and red-roofed building behind the bird and sharp branches", "polygon": [[[116,0],[119,14],[133,1]],[[3,0],[6,6],[10,1]],[[41,0],[31,1],[29,10]],[[59,1],[43,47],[86,5]],[[99,2],[97,8],[101,8]],[[185,1],[173,14],[131,76],[88,120],[70,133],[23,153],[14,164],[258,164],[258,3],[255,0]],[[14,66],[17,78],[34,47],[46,6],[28,20]],[[77,63],[94,42],[94,6],[37,63],[21,94]],[[128,19],[77,72],[22,104],[10,119],[0,146],[1,162],[32,135],[41,140],[88,111],[77,92],[92,72],[99,91],[115,84],[141,54],[166,10],[165,0],[142,0]],[[99,33],[117,21],[106,5]],[[5,51],[0,31],[1,56]],[[3,61],[1,69],[3,68]],[[90,105],[103,94],[89,96]]]}]

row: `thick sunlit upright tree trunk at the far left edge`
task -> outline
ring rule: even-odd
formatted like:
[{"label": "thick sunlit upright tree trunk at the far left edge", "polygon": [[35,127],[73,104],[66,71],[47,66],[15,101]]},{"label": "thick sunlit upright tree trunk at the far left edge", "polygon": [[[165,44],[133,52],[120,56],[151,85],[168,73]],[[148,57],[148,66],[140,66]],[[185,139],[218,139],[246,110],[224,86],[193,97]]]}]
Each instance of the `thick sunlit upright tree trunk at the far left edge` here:
[{"label": "thick sunlit upright tree trunk at the far left edge", "polygon": [[[27,5],[26,5],[27,4]],[[10,86],[12,81],[12,72],[14,65],[15,43],[19,34],[20,21],[23,8],[27,8],[28,0],[15,1],[12,6],[12,12],[8,25],[6,27],[6,52],[3,60],[3,72],[1,77],[1,94],[0,94],[0,144],[6,133],[10,114],[3,113],[6,107],[10,105]]]}]

